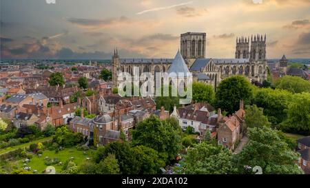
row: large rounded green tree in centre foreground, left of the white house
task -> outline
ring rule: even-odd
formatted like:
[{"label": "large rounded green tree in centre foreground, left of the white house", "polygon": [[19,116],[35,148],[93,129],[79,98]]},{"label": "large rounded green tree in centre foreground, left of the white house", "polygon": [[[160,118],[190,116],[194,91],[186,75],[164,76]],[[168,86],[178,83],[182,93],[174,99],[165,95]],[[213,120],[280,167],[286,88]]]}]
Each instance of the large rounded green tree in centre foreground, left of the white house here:
[{"label": "large rounded green tree in centre foreground, left of the white house", "polygon": [[166,160],[175,158],[180,149],[180,134],[169,121],[152,115],[132,130],[132,145],[145,145],[155,149]]}]

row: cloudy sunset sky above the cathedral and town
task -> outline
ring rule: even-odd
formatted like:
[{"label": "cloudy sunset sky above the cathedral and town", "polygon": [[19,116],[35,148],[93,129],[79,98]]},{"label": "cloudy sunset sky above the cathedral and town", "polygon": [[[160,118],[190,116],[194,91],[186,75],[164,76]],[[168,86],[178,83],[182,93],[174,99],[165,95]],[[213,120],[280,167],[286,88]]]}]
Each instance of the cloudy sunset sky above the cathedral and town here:
[{"label": "cloudy sunset sky above the cathedral and town", "polygon": [[[0,0],[1,58],[173,57],[180,34],[207,33],[207,56],[267,34],[267,57],[310,58],[310,0]],[[51,0],[47,0],[51,1]]]}]

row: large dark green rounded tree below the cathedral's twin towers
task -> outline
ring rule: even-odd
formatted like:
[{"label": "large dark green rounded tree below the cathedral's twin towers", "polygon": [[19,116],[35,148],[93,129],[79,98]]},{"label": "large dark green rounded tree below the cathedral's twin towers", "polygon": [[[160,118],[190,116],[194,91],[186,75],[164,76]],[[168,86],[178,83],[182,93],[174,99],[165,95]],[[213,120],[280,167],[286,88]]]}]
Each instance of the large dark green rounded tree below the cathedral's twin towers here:
[{"label": "large dark green rounded tree below the cathedral's twin towers", "polygon": [[233,114],[239,109],[240,99],[249,103],[253,95],[253,86],[243,76],[231,76],[218,85],[216,106]]}]

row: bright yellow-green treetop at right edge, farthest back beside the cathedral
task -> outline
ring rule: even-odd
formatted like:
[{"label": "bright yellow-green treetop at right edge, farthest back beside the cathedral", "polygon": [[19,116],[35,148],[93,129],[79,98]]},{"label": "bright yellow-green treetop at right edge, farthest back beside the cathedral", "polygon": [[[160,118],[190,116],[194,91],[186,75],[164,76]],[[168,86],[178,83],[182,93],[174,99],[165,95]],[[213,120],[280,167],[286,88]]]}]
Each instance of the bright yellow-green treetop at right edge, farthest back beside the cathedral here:
[{"label": "bright yellow-green treetop at right edge, farthest back beside the cathedral", "polygon": [[310,92],[310,82],[298,76],[283,76],[275,85],[277,89],[289,90],[292,93]]}]

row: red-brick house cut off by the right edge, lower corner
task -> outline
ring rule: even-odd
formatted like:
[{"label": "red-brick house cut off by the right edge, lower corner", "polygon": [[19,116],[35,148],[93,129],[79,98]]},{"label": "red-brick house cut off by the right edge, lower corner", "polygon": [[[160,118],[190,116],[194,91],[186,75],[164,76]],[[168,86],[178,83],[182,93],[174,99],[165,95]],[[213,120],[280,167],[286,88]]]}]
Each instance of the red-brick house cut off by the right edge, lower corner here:
[{"label": "red-brick house cut off by the right edge, lower corner", "polygon": [[298,153],[300,153],[298,166],[305,174],[310,174],[310,136],[298,139],[297,143]]}]

